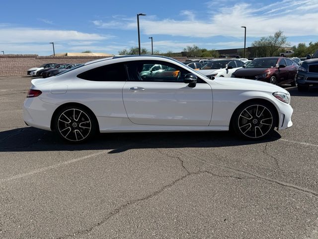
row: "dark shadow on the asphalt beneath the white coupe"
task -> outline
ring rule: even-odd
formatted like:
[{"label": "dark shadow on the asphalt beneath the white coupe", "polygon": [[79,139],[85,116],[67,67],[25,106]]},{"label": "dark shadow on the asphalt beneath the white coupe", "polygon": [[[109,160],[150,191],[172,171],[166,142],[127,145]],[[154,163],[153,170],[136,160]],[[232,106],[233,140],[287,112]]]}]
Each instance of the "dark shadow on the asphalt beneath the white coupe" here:
[{"label": "dark shadow on the asphalt beneath the white coupe", "polygon": [[267,139],[248,141],[232,132],[103,133],[89,142],[70,144],[54,132],[24,127],[0,132],[0,152],[110,150],[119,153],[138,148],[198,148],[249,145],[278,140],[276,131]]}]

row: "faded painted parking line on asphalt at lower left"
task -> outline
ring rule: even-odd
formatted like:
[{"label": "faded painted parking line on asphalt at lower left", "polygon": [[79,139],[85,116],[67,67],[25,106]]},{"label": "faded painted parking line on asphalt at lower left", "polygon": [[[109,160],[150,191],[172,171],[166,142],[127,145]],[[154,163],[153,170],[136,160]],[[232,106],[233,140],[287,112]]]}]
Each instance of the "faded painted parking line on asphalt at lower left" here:
[{"label": "faded painted parking line on asphalt at lower left", "polygon": [[36,173],[41,173],[41,172],[47,171],[49,169],[58,168],[58,167],[61,167],[61,166],[67,165],[67,164],[71,164],[71,163],[75,163],[75,162],[78,162],[78,161],[81,161],[81,160],[84,160],[84,159],[87,159],[87,158],[90,158],[90,157],[95,157],[95,156],[98,156],[100,154],[107,153],[109,151],[110,150],[104,150],[104,151],[101,151],[101,152],[98,152],[98,153],[93,153],[93,154],[90,154],[90,155],[86,155],[84,157],[74,158],[74,159],[71,159],[71,160],[66,161],[66,162],[57,163],[57,164],[54,164],[54,165],[51,165],[51,166],[35,169],[35,170],[30,171],[28,173],[17,174],[17,175],[14,175],[12,177],[9,177],[9,178],[0,179],[0,183],[12,181],[12,180],[15,180],[15,179],[20,179],[20,178],[23,178],[23,177],[26,177],[26,176],[30,176],[30,175],[33,175],[33,174],[36,174]]}]

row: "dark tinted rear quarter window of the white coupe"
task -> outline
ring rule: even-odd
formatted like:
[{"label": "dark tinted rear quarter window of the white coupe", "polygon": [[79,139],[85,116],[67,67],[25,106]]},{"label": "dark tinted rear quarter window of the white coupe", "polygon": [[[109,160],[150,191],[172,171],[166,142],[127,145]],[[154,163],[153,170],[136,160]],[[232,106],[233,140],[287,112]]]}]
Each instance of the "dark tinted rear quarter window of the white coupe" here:
[{"label": "dark tinted rear quarter window of the white coupe", "polygon": [[88,81],[126,81],[126,69],[122,63],[97,67],[78,75]]}]

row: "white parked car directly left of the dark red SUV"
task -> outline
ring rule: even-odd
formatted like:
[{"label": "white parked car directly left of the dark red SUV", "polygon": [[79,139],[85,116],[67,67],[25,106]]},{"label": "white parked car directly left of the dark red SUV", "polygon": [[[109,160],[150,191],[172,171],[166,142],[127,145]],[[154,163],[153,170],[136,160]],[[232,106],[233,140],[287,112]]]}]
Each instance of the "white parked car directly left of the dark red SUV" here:
[{"label": "white parked car directly left of the dark red SUV", "polygon": [[213,60],[198,70],[203,75],[211,77],[231,77],[237,69],[242,68],[244,63],[239,60]]}]

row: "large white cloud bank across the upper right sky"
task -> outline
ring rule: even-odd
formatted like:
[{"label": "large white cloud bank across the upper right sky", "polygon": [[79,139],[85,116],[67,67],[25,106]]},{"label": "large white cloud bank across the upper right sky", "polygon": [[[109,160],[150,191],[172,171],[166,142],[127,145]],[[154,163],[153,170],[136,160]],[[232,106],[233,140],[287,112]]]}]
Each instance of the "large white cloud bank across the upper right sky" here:
[{"label": "large white cloud bank across the upper right sky", "polygon": [[[242,25],[246,26],[248,37],[266,36],[278,30],[282,30],[286,36],[318,35],[318,0],[283,0],[269,5],[239,3],[219,9],[215,9],[215,1],[206,4],[211,9],[214,6],[213,15],[208,16],[207,20],[196,20],[193,11],[183,10],[180,15],[185,16],[184,20],[158,20],[143,16],[140,18],[140,28],[149,35],[198,38],[218,35],[241,38],[242,30],[239,27]],[[137,27],[136,19],[118,19],[118,16],[112,21],[99,20],[94,21],[94,24],[101,28],[123,30],[135,30]]]}]

